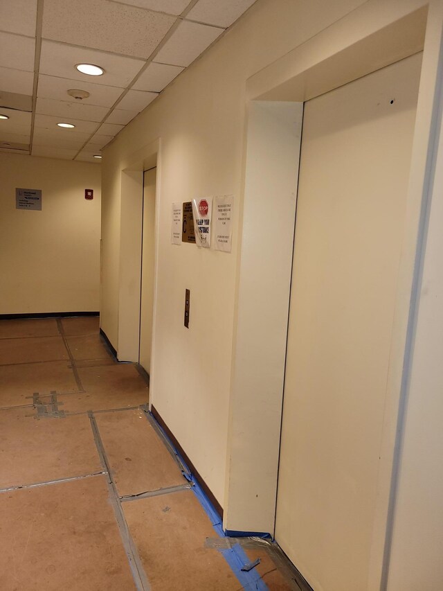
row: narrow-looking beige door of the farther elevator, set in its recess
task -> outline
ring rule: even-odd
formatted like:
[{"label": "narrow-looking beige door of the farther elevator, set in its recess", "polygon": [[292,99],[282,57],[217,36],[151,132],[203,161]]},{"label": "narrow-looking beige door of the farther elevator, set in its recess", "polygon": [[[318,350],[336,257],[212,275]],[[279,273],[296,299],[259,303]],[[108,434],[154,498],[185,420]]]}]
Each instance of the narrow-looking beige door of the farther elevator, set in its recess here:
[{"label": "narrow-looking beige door of the farther elevator, set in its recess", "polygon": [[152,356],[155,267],[156,167],[143,172],[140,341],[138,362],[149,374]]}]

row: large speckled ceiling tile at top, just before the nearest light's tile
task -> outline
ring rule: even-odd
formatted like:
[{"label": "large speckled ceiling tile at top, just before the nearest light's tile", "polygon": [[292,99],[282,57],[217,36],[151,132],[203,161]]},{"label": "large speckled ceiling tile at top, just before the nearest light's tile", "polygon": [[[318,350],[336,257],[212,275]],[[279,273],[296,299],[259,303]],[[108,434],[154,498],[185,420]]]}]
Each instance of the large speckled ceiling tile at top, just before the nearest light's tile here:
[{"label": "large speckled ceiling tile at top, just before the nearest light's tile", "polygon": [[42,35],[45,39],[149,58],[175,20],[107,0],[45,0]]}]

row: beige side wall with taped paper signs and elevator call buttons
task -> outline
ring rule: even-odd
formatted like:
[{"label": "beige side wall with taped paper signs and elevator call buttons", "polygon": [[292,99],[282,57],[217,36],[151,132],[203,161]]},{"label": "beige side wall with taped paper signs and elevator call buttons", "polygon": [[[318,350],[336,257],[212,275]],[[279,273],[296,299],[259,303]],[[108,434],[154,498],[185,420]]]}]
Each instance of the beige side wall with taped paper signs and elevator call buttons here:
[{"label": "beige side wall with taped paper signs and elevator call buttons", "polygon": [[[120,171],[132,164],[132,154],[161,138],[152,403],[221,504],[242,209],[246,79],[362,3],[259,0],[104,152],[102,328],[115,346]],[[235,199],[230,254],[170,243],[173,202],[226,194]],[[186,288],[191,292],[189,330],[183,327]]]}]

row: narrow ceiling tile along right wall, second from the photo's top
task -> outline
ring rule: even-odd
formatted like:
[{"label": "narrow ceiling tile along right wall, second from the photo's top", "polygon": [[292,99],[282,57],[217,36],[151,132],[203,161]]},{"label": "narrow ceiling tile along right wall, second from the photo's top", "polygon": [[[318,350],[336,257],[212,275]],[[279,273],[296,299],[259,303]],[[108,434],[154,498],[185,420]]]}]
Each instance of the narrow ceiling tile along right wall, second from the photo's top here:
[{"label": "narrow ceiling tile along right wall, second from the photo's top", "polygon": [[155,56],[156,62],[189,66],[223,32],[222,28],[181,21]]}]

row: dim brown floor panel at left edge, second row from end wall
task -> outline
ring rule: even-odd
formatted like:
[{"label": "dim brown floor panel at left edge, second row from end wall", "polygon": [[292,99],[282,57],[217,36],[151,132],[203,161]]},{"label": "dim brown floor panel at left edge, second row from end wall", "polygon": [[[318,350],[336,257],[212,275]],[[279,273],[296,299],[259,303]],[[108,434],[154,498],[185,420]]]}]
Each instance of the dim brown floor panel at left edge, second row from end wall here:
[{"label": "dim brown floor panel at left edge, second row from end wall", "polygon": [[62,337],[0,339],[0,365],[69,359]]}]

